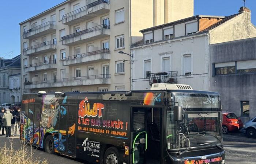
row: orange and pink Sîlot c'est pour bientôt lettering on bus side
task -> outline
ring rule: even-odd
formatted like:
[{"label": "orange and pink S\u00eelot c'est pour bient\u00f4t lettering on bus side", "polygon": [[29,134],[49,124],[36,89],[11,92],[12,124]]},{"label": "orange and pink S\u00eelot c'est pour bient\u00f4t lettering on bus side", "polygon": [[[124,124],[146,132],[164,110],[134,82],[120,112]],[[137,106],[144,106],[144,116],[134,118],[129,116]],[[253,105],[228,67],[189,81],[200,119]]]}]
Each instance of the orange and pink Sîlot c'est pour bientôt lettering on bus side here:
[{"label": "orange and pink S\u00eelot c'est pour bient\u00f4t lettering on bus side", "polygon": [[91,106],[87,97],[80,101],[78,109],[78,130],[126,139],[128,122],[120,119],[103,119],[104,107],[104,104],[97,102]]}]

